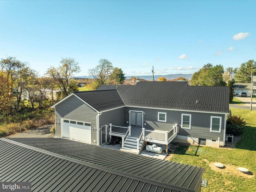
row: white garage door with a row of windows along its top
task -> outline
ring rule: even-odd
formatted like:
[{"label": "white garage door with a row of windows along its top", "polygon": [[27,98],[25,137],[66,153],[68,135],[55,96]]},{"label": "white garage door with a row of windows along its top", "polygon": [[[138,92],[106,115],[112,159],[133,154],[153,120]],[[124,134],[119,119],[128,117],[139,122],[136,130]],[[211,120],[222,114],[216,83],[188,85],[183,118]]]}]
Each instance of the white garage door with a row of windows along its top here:
[{"label": "white garage door with a row of windows along its top", "polygon": [[61,127],[63,138],[91,144],[92,129],[90,123],[62,119]]}]

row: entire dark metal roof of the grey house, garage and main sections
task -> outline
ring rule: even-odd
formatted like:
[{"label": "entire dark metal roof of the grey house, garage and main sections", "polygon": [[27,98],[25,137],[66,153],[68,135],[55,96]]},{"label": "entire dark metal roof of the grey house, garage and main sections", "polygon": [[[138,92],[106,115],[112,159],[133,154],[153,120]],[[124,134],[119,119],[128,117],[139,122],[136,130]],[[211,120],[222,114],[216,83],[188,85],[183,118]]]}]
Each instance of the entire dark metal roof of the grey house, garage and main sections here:
[{"label": "entire dark metal roof of the grey house, garage and main sections", "polygon": [[105,87],[112,90],[74,94],[98,111],[121,106],[138,106],[198,112],[229,112],[229,88],[226,86],[188,86],[188,82],[138,82],[136,86]]}]

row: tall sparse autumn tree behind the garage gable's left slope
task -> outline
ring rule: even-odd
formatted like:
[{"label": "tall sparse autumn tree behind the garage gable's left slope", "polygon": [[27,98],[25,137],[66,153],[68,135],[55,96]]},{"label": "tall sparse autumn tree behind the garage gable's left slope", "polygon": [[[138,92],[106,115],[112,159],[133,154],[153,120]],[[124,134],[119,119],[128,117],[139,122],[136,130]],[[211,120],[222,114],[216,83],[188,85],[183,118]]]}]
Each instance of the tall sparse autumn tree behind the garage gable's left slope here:
[{"label": "tall sparse autumn tree behind the garage gable's left slope", "polygon": [[70,86],[71,77],[81,70],[78,62],[74,58],[62,58],[60,64],[58,68],[52,66],[48,68],[46,75],[55,80],[62,91],[62,96],[66,97],[74,90],[73,84]]}]

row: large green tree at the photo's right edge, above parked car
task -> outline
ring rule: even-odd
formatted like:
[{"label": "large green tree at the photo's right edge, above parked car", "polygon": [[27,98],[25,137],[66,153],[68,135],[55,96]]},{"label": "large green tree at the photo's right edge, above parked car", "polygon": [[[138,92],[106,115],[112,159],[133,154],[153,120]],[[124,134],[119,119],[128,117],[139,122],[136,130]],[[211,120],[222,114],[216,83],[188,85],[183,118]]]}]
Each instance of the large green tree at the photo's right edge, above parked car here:
[{"label": "large green tree at the photo's right edge, above parked car", "polygon": [[251,72],[256,73],[256,62],[248,60],[248,62],[242,63],[234,76],[236,83],[250,83]]}]

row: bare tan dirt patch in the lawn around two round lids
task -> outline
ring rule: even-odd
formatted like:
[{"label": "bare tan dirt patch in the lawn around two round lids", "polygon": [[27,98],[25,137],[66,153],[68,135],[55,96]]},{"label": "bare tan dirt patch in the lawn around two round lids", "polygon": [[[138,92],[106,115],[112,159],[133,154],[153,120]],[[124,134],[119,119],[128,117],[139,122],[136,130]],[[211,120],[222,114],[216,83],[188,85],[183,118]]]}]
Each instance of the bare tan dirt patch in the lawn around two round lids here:
[{"label": "bare tan dirt patch in the lawn around two round lids", "polygon": [[236,175],[236,176],[242,176],[242,177],[246,177],[246,178],[254,178],[254,174],[252,172],[248,173],[242,173],[240,171],[238,171],[238,167],[233,166],[233,165],[224,165],[224,168],[218,168],[214,165],[215,162],[211,162],[209,163],[207,160],[204,160],[205,162],[207,162],[210,166],[210,168],[216,172],[220,172],[223,174],[232,174],[232,175]]}]

